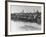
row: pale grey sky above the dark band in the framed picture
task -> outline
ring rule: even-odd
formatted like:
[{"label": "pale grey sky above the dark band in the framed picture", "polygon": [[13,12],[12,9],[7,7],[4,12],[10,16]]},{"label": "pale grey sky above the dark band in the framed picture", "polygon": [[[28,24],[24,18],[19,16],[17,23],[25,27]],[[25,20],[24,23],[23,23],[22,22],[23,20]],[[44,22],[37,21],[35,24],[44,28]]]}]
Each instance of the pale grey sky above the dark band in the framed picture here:
[{"label": "pale grey sky above the dark band in the framed picture", "polygon": [[11,5],[10,9],[11,9],[11,13],[20,13],[23,10],[24,10],[25,13],[26,12],[28,12],[28,13],[32,12],[32,13],[34,13],[37,10],[39,12],[41,12],[41,7],[40,6],[18,6],[18,5]]}]

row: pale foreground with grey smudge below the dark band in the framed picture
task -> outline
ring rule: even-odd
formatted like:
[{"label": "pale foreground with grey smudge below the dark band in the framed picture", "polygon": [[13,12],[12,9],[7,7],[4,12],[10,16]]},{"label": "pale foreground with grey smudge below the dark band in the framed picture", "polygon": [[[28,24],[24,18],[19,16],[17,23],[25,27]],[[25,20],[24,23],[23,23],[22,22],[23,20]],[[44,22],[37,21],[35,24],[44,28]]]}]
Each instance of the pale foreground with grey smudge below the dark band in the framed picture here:
[{"label": "pale foreground with grey smudge below the dark band in the framed picture", "polygon": [[11,21],[11,32],[41,30],[41,25],[31,22]]}]

